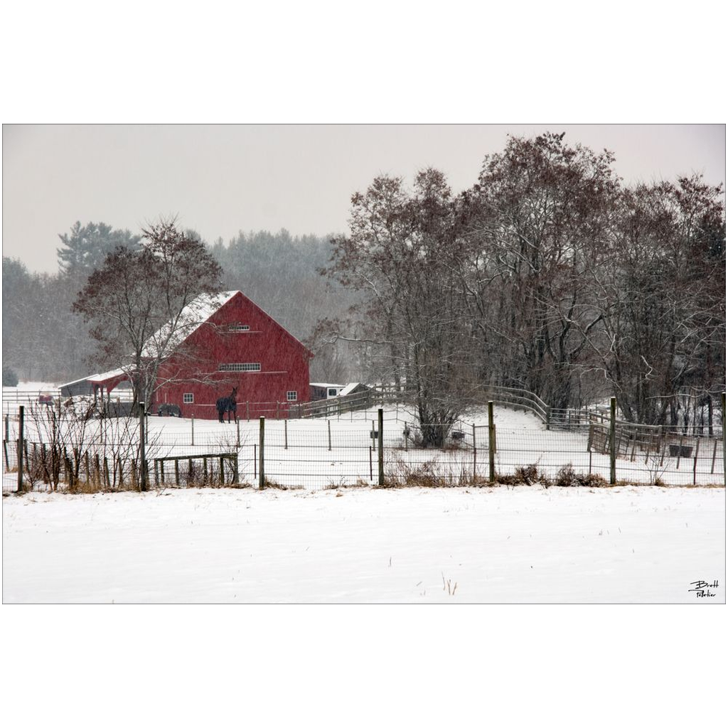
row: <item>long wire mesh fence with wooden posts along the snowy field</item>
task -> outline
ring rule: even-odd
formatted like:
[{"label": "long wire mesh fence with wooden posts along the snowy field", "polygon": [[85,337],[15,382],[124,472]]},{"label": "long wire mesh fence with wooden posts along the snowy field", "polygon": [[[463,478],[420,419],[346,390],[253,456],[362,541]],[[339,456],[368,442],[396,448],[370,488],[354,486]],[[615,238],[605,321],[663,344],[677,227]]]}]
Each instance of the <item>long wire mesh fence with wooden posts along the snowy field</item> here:
[{"label": "long wire mesh fence with wooden posts along the snowy field", "polygon": [[[725,482],[722,432],[700,437],[622,425],[614,428],[612,443],[602,422],[571,430],[527,422],[422,427],[411,412],[392,408],[381,413],[380,431],[378,411],[357,411],[336,419],[266,420],[261,448],[259,421],[152,417],[144,449],[151,486],[467,486],[513,482],[526,472],[549,484],[562,482],[564,471],[608,483],[612,461],[617,482]],[[131,418],[94,419],[79,430],[73,419],[31,417],[23,438],[25,486],[138,488],[140,432]],[[15,490],[20,445],[17,427],[7,420],[6,435],[4,489]]]}]

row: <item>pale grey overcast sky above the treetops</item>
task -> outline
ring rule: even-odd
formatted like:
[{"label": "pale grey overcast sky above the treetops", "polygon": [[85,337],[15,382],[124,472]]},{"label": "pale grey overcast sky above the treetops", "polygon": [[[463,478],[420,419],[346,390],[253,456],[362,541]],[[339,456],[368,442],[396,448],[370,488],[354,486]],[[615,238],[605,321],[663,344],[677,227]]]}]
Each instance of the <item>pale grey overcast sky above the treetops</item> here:
[{"label": "pale grey overcast sky above the treetops", "polygon": [[508,133],[543,130],[614,151],[628,182],[697,172],[725,183],[722,124],[4,125],[3,255],[55,272],[58,234],[76,220],[138,232],[178,215],[210,242],[344,232],[349,197],[379,173],[411,181],[438,167],[460,191]]}]

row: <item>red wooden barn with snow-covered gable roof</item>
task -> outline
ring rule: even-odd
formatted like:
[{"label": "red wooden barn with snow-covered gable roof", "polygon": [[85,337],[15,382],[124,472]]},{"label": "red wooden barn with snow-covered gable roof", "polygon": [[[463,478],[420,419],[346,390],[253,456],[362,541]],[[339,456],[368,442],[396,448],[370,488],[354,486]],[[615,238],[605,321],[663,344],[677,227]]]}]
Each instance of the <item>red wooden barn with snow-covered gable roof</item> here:
[{"label": "red wooden barn with snow-covered gable roof", "polygon": [[216,419],[215,403],[234,387],[239,417],[285,416],[292,403],[309,401],[311,352],[240,290],[199,296],[181,320],[152,411],[166,403],[183,417]]}]

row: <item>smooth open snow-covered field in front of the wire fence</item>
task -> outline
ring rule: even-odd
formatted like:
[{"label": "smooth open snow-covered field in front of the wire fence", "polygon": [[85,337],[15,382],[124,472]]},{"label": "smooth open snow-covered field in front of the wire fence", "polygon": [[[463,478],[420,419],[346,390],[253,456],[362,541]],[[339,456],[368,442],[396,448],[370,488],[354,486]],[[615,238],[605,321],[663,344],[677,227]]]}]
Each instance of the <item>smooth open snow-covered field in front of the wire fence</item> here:
[{"label": "smooth open snow-covered field in front of the wire fence", "polygon": [[3,601],[712,604],[724,544],[723,488],[36,493]]}]

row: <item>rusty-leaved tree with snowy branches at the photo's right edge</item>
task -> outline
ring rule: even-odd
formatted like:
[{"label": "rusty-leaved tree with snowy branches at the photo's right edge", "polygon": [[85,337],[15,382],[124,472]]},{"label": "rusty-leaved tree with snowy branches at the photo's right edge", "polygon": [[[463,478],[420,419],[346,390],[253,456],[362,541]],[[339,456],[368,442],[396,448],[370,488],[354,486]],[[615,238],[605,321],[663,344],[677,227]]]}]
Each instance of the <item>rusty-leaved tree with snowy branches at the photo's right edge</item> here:
[{"label": "rusty-leaved tree with snowy branches at the photo's right edge", "polygon": [[691,393],[724,387],[722,197],[699,177],[620,196],[610,263],[595,276],[603,336],[591,344],[630,422],[674,427]]}]

